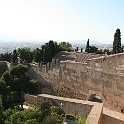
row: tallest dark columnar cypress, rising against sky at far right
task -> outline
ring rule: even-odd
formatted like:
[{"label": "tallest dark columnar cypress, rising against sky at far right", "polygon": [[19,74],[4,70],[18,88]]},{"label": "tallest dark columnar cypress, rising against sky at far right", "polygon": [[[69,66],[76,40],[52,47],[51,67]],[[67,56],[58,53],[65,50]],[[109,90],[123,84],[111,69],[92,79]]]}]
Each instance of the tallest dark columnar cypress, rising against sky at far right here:
[{"label": "tallest dark columnar cypress, rising against sky at far right", "polygon": [[122,48],[121,48],[121,32],[120,29],[118,28],[114,34],[114,41],[113,41],[113,53],[121,53]]}]

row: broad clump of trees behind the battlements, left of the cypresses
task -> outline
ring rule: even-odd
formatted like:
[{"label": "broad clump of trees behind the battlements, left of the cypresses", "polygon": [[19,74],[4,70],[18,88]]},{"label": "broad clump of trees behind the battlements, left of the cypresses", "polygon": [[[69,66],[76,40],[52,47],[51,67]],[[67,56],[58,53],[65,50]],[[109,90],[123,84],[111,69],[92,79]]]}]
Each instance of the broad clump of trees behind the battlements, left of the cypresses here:
[{"label": "broad clump of trees behind the battlements, left of the cypresses", "polygon": [[53,42],[50,40],[48,43],[45,43],[40,48],[36,48],[31,51],[30,48],[18,48],[13,51],[13,53],[1,53],[0,61],[8,61],[13,60],[15,64],[17,64],[18,57],[21,59],[21,63],[31,63],[31,62],[39,62],[39,63],[48,63],[52,61],[53,56],[59,51],[72,51],[72,45],[68,42]]}]

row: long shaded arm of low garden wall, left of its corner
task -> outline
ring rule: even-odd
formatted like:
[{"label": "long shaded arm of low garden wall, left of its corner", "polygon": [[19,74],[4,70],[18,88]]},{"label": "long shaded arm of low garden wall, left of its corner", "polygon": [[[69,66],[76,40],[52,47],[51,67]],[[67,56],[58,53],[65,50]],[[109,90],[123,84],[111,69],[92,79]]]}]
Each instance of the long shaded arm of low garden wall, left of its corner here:
[{"label": "long shaded arm of low garden wall, left of its corner", "polygon": [[47,101],[49,101],[51,105],[59,106],[65,113],[73,114],[75,116],[82,116],[85,118],[88,117],[93,107],[93,104],[83,100],[57,97],[47,94],[40,94],[38,96],[33,96],[29,94],[25,95],[25,102],[33,105],[40,106]]}]

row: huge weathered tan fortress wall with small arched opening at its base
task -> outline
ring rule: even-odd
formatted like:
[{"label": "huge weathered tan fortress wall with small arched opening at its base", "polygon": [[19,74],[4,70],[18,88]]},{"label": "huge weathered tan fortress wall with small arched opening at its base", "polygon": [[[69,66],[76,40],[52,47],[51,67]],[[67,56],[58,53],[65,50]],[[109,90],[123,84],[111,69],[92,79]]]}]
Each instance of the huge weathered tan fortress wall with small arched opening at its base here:
[{"label": "huge weathered tan fortress wall with small arched opening at its base", "polygon": [[[120,111],[124,106],[124,54],[87,60],[30,65],[29,73],[37,81],[50,85],[56,95],[88,100],[101,97],[104,106]],[[52,94],[52,93],[51,93]]]}]

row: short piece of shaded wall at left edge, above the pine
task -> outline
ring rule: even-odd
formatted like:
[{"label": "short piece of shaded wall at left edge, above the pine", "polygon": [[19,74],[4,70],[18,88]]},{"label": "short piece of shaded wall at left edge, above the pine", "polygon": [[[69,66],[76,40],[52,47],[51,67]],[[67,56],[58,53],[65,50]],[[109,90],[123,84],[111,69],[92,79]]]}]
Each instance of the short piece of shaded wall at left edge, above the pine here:
[{"label": "short piece of shaded wall at left edge, above the pine", "polygon": [[7,61],[0,61],[0,77],[10,68],[10,63]]}]

